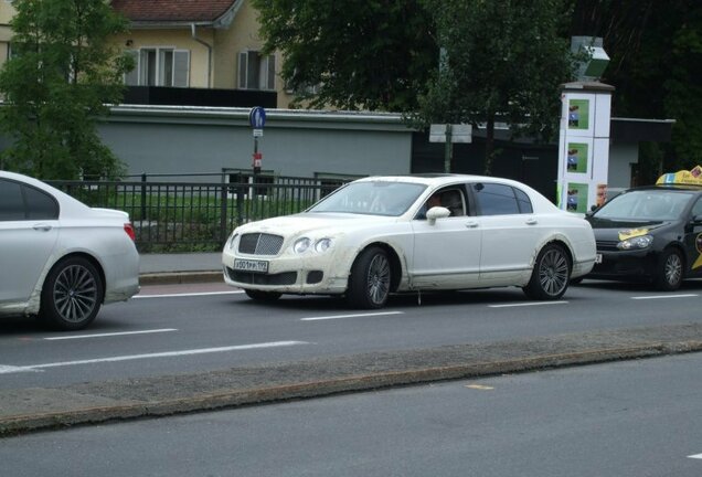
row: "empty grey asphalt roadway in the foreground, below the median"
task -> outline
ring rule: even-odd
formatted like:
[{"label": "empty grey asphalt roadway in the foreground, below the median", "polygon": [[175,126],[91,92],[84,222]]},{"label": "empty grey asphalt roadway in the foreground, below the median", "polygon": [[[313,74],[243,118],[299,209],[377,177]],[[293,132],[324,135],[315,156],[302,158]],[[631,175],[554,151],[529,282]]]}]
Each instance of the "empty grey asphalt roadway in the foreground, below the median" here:
[{"label": "empty grey asphalt roadway in the foreground, below the median", "polygon": [[702,353],[0,439],[3,475],[702,475]]}]

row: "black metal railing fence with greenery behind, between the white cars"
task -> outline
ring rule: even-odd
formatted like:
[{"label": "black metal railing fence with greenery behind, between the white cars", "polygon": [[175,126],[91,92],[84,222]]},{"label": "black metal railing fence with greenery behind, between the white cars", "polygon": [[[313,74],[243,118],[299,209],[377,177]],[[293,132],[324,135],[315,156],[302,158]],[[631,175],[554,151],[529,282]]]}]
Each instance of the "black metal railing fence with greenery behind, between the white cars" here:
[{"label": "black metal railing fence with greenery behind, between the white cars", "polygon": [[236,182],[52,181],[93,208],[129,213],[140,252],[219,251],[240,224],[301,212],[347,180],[227,176]]}]

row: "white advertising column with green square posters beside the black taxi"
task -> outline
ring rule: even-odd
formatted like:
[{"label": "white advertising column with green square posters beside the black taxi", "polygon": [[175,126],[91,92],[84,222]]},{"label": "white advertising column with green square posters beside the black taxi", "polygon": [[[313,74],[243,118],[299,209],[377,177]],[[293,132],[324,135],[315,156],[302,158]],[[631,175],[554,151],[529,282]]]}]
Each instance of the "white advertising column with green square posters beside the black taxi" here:
[{"label": "white advertising column with green square posters beside the black taxi", "polygon": [[557,205],[585,213],[607,199],[609,119],[614,87],[564,85],[559,142]]}]

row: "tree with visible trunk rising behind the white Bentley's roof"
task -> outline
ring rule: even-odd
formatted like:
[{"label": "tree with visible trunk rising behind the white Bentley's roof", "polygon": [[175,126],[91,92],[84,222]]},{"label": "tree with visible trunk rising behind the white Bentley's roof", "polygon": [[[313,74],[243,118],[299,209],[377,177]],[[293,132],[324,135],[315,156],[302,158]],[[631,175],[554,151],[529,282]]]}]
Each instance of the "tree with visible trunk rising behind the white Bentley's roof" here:
[{"label": "tree with visible trunk rising behind the white Bentley's roof", "polygon": [[416,118],[486,124],[486,173],[494,152],[494,124],[515,135],[553,139],[561,116],[561,85],[576,57],[563,34],[570,19],[562,1],[427,0],[435,12],[442,67],[422,96]]}]

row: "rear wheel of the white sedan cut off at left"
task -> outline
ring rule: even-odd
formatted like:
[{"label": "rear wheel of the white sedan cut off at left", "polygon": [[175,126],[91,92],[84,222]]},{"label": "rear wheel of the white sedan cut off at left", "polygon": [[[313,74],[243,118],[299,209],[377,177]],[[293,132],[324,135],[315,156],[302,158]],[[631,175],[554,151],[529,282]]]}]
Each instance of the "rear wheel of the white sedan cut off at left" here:
[{"label": "rear wheel of the white sedan cut off at left", "polygon": [[104,289],[99,272],[87,258],[64,258],[44,280],[40,318],[62,330],[83,329],[97,316]]}]

